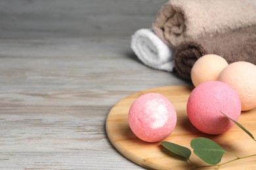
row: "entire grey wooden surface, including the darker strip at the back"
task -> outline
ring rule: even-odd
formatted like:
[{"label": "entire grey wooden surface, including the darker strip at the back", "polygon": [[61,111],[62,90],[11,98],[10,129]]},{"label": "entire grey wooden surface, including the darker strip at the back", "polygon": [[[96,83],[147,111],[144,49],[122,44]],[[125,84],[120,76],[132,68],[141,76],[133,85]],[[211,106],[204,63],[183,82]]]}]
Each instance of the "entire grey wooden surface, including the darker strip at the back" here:
[{"label": "entire grey wooden surface, including the darker strip at the back", "polygon": [[0,169],[142,169],[105,122],[131,93],[190,83],[130,48],[164,3],[0,1]]}]

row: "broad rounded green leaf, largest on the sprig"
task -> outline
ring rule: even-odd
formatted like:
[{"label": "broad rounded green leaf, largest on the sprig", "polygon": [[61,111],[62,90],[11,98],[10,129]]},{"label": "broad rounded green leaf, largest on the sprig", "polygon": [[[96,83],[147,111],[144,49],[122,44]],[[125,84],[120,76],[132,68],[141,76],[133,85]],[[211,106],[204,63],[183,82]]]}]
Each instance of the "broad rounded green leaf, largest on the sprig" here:
[{"label": "broad rounded green leaf, largest on the sprig", "polygon": [[194,149],[194,154],[211,165],[219,163],[226,152],[219,144],[205,137],[193,139],[190,146]]}]

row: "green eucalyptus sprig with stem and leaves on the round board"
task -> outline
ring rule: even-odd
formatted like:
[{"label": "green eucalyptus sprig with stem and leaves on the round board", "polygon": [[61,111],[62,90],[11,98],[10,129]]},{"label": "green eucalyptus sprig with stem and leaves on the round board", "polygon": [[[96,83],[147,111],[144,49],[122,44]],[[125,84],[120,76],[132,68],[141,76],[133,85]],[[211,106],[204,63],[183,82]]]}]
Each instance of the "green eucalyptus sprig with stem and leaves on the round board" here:
[{"label": "green eucalyptus sprig with stem and leaves on the round board", "polygon": [[[224,114],[223,112],[221,112],[221,113],[224,116],[226,116],[226,114]],[[253,137],[253,135],[249,131],[247,131],[247,129],[245,129],[244,126],[242,126],[241,124],[239,124],[232,118],[229,118],[228,116],[226,116],[226,118],[228,118],[229,120],[234,122],[234,124],[236,124],[238,127],[240,127],[243,131],[245,131],[245,133],[247,133],[247,135],[249,135],[254,141],[256,141],[255,138]],[[225,165],[232,161],[256,156],[256,154],[252,154],[249,156],[239,157],[230,152],[227,152],[226,150],[224,150],[224,148],[222,148],[219,144],[215,143],[211,139],[207,139],[205,137],[198,137],[198,138],[190,141],[190,146],[191,146],[191,148],[193,148],[193,152],[194,152],[194,154],[196,154],[196,156],[198,156],[201,160],[205,161],[205,163],[209,164],[209,165],[198,166],[190,160],[191,150],[189,148],[186,148],[179,144],[170,143],[167,141],[163,141],[161,144],[165,148],[167,148],[167,150],[172,152],[173,154],[181,156],[182,158],[185,158],[190,163],[192,163],[192,165],[194,165],[194,167],[195,167],[194,169],[201,168],[201,167],[214,167],[214,166],[219,168],[222,165]],[[232,154],[236,158],[234,158],[233,160],[226,161],[224,163],[220,163],[221,159],[223,158],[223,155],[225,153]]]}]

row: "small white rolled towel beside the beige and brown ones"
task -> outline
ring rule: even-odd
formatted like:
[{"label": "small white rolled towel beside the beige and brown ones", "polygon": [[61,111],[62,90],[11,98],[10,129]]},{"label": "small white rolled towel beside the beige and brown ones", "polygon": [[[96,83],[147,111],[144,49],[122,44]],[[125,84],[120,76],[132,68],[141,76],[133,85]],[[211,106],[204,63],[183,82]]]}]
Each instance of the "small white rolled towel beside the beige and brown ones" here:
[{"label": "small white rolled towel beside the beige and brown ones", "polygon": [[131,37],[131,48],[137,57],[149,67],[173,71],[173,51],[152,29],[139,29]]}]

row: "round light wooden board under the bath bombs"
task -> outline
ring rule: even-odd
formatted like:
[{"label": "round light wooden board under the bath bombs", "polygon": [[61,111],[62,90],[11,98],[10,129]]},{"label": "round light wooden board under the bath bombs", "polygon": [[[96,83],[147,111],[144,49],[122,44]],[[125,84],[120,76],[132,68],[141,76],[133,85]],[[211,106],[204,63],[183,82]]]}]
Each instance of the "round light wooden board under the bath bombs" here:
[{"label": "round light wooden board under the bath bombs", "polygon": [[[190,141],[192,139],[196,137],[207,137],[237,156],[256,154],[256,142],[236,125],[222,135],[206,135],[192,126],[186,116],[186,101],[191,91],[192,86],[165,86],[137,92],[122,99],[110,110],[106,120],[106,132],[111,143],[123,156],[149,169],[194,168],[193,165],[179,156],[167,152],[161,146],[161,142],[146,143],[138,139],[131,131],[127,122],[129,107],[140,95],[155,92],[167,97],[173,103],[177,112],[177,126],[173,133],[163,141],[177,143],[192,150],[190,147]],[[242,112],[238,122],[256,136],[256,109]],[[221,163],[234,158],[232,154],[224,154]],[[207,165],[194,153],[192,153],[190,159],[198,165]],[[217,167],[200,169],[217,169]],[[221,166],[220,169],[256,169],[256,156],[233,161]]]}]

